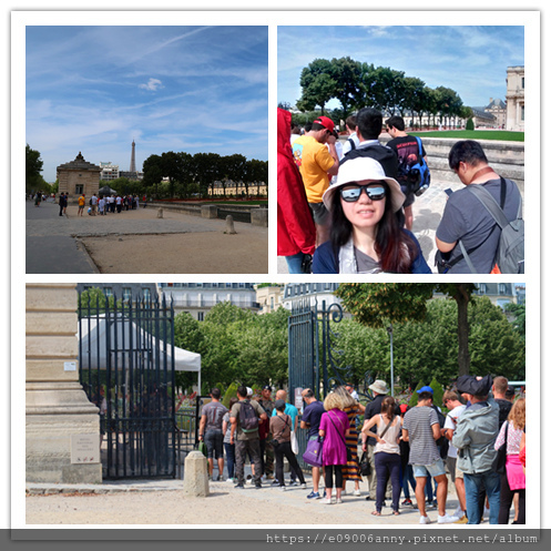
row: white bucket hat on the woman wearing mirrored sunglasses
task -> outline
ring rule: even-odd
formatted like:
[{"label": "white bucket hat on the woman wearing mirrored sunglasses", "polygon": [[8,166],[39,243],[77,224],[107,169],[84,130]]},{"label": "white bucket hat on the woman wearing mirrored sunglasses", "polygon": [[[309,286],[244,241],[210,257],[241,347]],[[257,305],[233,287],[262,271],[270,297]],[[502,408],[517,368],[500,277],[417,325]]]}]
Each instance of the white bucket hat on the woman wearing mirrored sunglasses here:
[{"label": "white bucket hat on the woman wearing mirrored sunglasses", "polygon": [[345,184],[360,182],[363,180],[379,180],[386,182],[390,188],[390,201],[392,211],[397,212],[404,205],[406,195],[401,193],[400,184],[392,177],[385,174],[381,164],[371,157],[355,157],[344,162],[337,174],[337,182],[330,185],[324,193],[324,204],[328,211],[331,208],[333,194]]}]

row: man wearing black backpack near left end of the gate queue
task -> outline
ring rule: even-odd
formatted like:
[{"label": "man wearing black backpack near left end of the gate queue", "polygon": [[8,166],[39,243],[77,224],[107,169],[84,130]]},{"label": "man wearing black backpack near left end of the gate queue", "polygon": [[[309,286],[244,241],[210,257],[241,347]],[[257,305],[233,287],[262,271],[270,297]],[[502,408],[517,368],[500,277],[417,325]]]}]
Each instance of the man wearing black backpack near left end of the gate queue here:
[{"label": "man wearing black backpack near left end of the gate queue", "polygon": [[258,426],[261,422],[268,422],[268,416],[256,400],[247,398],[247,387],[237,388],[238,402],[234,404],[229,411],[232,424],[229,442],[235,443],[235,476],[237,484],[235,488],[245,488],[245,461],[247,453],[254,465],[254,484],[262,488],[262,460],[261,440]]}]

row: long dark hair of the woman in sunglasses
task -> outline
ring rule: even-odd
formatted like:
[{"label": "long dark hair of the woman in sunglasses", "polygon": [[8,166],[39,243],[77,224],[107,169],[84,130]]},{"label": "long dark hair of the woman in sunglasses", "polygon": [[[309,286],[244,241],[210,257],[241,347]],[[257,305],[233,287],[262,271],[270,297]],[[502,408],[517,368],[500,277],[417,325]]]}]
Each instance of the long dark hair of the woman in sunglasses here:
[{"label": "long dark hair of the woman in sunglasses", "polygon": [[[381,182],[385,187],[386,201],[385,212],[377,224],[375,235],[375,252],[380,258],[380,268],[382,272],[392,274],[410,274],[411,264],[417,256],[414,239],[402,232],[405,215],[400,208],[392,212],[392,202],[390,200],[390,188],[386,182]],[[353,234],[353,225],[346,217],[340,203],[340,193],[333,194],[331,205],[331,232],[330,242],[333,253],[338,259],[338,252],[341,246],[346,245]]]}]

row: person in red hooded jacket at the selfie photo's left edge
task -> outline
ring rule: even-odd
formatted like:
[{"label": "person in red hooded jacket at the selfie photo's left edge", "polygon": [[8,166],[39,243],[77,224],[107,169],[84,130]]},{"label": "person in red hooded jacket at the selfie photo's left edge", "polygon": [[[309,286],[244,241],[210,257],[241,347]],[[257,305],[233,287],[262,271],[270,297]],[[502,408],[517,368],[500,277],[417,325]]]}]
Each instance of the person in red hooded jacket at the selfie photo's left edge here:
[{"label": "person in red hooded jacket at the selfie photo's left edge", "polygon": [[277,255],[289,274],[303,274],[315,248],[316,227],[290,149],[290,113],[277,108]]}]

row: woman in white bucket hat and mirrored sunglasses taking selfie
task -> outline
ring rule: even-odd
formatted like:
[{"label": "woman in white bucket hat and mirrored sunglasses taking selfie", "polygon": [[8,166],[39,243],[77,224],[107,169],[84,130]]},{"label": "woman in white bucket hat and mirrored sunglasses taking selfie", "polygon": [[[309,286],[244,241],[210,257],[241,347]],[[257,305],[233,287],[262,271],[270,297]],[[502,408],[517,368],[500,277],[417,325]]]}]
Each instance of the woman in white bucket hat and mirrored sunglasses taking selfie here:
[{"label": "woman in white bucket hat and mirrored sunglasses taking selfie", "polygon": [[430,274],[414,234],[404,228],[400,185],[370,157],[344,162],[324,193],[330,239],[314,254],[314,274]]}]

